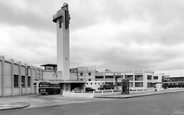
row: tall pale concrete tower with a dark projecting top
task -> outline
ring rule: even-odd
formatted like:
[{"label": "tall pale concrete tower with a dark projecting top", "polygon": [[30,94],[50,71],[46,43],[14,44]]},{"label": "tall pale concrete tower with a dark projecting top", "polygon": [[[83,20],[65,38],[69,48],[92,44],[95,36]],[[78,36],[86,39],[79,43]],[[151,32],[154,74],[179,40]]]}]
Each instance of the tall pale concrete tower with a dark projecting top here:
[{"label": "tall pale concrete tower with a dark projecting top", "polygon": [[69,21],[68,4],[64,3],[53,16],[57,28],[57,71],[60,80],[70,80]]}]

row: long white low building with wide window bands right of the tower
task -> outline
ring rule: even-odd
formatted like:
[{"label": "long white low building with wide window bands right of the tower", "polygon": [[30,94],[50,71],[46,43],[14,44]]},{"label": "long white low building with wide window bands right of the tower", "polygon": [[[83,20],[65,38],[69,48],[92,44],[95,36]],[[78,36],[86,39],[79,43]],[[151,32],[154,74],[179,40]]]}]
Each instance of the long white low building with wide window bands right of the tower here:
[{"label": "long white low building with wide window bands right of the tower", "polygon": [[164,73],[154,73],[154,71],[146,70],[132,70],[132,71],[123,71],[123,72],[112,72],[104,71],[97,72],[95,70],[94,75],[86,76],[88,71],[82,73],[80,71],[80,79],[86,79],[86,87],[92,87],[98,90],[99,85],[111,84],[115,85],[115,78],[117,78],[118,89],[121,90],[121,80],[128,79],[129,87],[131,90],[144,90],[149,88],[162,87],[162,79],[164,78]]}]

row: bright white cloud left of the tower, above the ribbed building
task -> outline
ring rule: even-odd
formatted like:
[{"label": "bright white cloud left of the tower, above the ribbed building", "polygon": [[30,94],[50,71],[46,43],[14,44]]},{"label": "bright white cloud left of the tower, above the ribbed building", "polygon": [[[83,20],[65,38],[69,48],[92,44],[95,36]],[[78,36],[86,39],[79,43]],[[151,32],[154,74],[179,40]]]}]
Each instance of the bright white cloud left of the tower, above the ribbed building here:
[{"label": "bright white cloud left of the tower, above the ribbed building", "polygon": [[0,26],[1,55],[37,66],[48,61],[55,62],[56,40],[50,39],[53,36],[51,33],[30,30],[24,26]]}]

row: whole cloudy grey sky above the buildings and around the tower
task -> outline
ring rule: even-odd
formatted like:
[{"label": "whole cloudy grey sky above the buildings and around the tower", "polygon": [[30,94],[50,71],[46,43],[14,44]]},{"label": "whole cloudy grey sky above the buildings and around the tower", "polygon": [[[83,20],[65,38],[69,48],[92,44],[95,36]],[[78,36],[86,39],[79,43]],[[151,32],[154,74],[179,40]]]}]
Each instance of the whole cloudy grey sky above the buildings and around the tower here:
[{"label": "whole cloudy grey sky above the buildings and around the tower", "polygon": [[70,65],[184,76],[183,0],[1,0],[0,55],[57,62],[53,15],[69,4]]}]

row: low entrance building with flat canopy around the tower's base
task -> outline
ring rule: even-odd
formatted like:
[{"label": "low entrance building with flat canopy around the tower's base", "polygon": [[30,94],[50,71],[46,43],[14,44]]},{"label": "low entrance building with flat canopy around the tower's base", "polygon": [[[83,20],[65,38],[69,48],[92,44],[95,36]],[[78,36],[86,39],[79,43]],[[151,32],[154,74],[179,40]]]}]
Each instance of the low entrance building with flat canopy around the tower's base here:
[{"label": "low entrance building with flat canopy around the tower's base", "polygon": [[[78,79],[78,68],[72,68],[69,71],[69,80],[64,80],[63,76],[58,76],[57,65],[56,64],[44,64],[41,65],[43,69],[42,81],[47,81],[51,83],[59,83],[60,88],[63,91],[72,91],[75,88],[84,90],[85,81]],[[60,71],[61,72],[61,71]]]}]

